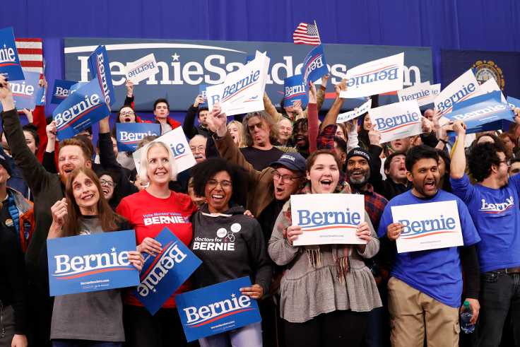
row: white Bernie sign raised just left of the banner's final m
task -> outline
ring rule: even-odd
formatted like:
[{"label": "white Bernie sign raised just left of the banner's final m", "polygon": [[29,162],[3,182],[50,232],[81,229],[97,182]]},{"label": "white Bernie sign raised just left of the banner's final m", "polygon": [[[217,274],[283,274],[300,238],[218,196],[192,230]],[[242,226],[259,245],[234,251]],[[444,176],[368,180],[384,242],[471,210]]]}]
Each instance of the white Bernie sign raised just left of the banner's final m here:
[{"label": "white Bernie sign raised just left of the banner's final m", "polygon": [[404,52],[369,61],[347,71],[347,90],[340,98],[360,98],[403,89]]}]

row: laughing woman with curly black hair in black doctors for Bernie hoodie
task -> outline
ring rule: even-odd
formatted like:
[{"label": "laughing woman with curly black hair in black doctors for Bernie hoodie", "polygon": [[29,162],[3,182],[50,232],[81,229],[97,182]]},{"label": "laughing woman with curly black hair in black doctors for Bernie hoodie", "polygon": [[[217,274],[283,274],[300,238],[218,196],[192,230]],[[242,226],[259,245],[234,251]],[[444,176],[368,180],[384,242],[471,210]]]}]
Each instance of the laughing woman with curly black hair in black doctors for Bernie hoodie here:
[{"label": "laughing woman with curly black hair in black doctors for Bernie hoodie", "polygon": [[[194,192],[206,204],[194,214],[191,249],[202,260],[192,276],[195,288],[247,276],[252,286],[242,295],[261,299],[271,284],[271,261],[260,224],[244,216],[247,177],[244,171],[222,158],[211,158],[192,169]],[[262,346],[261,323],[199,339],[206,346]]]}]

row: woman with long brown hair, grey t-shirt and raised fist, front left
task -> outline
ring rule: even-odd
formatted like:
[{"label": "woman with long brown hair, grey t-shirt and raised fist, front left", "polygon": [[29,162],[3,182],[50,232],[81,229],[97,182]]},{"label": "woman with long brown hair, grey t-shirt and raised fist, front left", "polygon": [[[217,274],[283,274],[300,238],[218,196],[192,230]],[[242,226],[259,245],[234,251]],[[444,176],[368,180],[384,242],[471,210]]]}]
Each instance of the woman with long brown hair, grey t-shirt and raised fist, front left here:
[{"label": "woman with long brown hair, grey t-shirt and raised fist, front left", "polygon": [[[100,180],[88,168],[71,172],[66,198],[57,201],[51,212],[49,239],[129,229],[126,220],[115,214],[102,197]],[[129,252],[129,261],[141,271],[143,258],[139,252]],[[78,346],[78,343],[82,343],[81,346],[99,346],[100,343],[102,346],[122,346],[121,291],[57,296],[52,310],[51,339],[54,347]]]}]

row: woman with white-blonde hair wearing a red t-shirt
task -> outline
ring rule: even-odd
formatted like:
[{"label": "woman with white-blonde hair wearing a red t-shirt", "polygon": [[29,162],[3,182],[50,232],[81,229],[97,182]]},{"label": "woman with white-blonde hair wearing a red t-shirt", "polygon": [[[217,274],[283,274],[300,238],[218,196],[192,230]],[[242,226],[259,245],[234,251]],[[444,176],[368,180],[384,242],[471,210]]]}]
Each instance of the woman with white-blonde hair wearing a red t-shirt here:
[{"label": "woman with white-blonde hair wearing a red t-shirt", "polygon": [[[187,194],[168,189],[168,182],[177,177],[172,150],[160,141],[148,143],[143,148],[138,173],[150,184],[141,192],[126,196],[117,206],[117,213],[129,220],[136,230],[138,250],[153,256],[160,253],[161,245],[154,237],[164,228],[169,228],[185,245],[189,245],[193,235],[189,218],[197,208]],[[186,290],[186,284],[183,284],[153,316],[133,294],[126,293],[126,346],[186,345],[174,300],[175,294]]]}]

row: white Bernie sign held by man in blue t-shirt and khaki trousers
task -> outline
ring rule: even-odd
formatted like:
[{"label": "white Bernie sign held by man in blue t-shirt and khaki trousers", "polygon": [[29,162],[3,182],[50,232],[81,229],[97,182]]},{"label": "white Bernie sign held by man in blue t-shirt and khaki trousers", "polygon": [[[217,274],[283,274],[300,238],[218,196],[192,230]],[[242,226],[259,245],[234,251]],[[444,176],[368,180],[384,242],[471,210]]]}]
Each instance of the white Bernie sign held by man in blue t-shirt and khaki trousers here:
[{"label": "white Bernie sign held by man in blue t-shirt and khaki trousers", "polygon": [[398,253],[463,245],[455,200],[391,206],[391,211],[394,223],[403,225],[396,240]]}]

